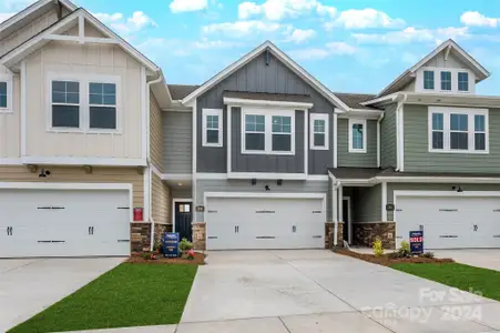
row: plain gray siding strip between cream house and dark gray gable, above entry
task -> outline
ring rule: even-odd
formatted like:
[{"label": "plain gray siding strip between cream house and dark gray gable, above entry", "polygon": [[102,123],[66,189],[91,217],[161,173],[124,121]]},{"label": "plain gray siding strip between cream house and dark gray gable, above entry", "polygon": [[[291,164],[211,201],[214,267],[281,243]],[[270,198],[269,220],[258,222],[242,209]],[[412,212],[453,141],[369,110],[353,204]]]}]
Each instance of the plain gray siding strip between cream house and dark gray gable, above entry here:
[{"label": "plain gray siding strip between cream house and dark gray gable, above entry", "polygon": [[191,112],[163,112],[163,170],[192,173],[193,120]]}]

